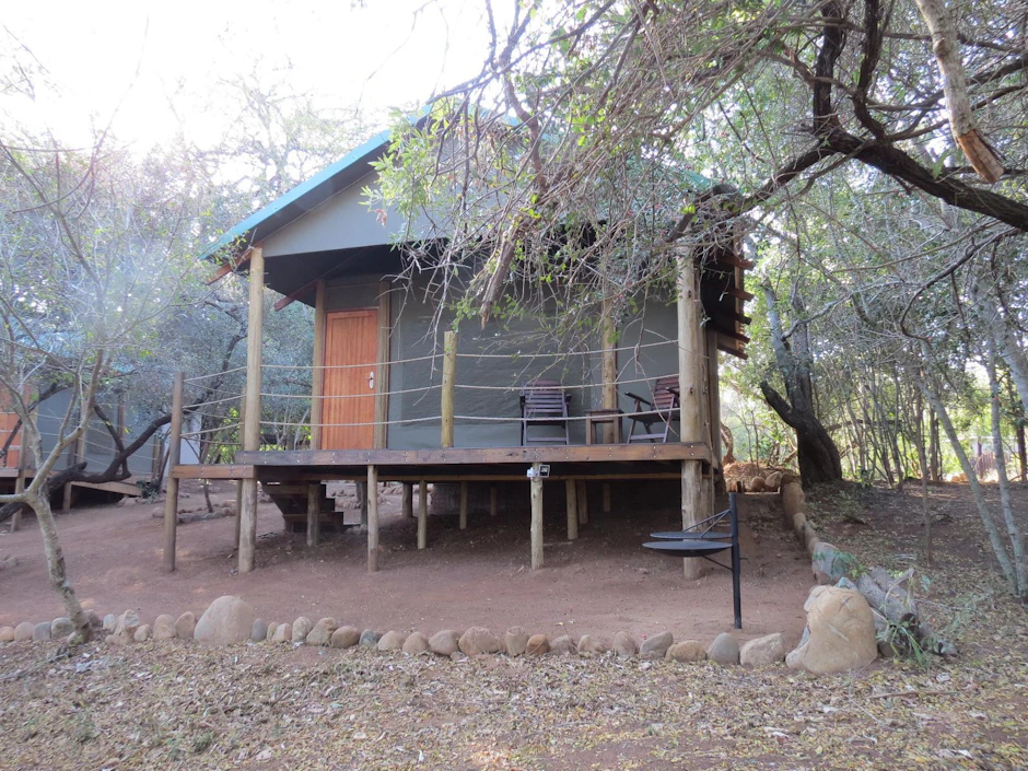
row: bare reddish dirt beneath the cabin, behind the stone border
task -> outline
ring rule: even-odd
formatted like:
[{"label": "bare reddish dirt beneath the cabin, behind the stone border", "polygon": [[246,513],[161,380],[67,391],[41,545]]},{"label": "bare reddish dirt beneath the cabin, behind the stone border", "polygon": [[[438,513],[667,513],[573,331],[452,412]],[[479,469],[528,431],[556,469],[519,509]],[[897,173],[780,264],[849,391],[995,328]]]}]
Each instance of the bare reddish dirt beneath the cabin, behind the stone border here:
[{"label": "bare reddish dirt beneath the cabin, behind the stone border", "polygon": [[[394,492],[398,492],[395,490]],[[198,509],[191,488],[183,509]],[[234,500],[222,483],[215,503]],[[612,635],[624,629],[651,634],[669,629],[676,638],[712,640],[733,626],[728,571],[712,568],[686,581],[681,563],[649,552],[641,544],[654,529],[680,525],[652,511],[591,512],[576,541],[568,541],[563,511],[546,516],[546,568],[528,569],[528,513],[497,517],[472,512],[468,529],[457,517],[431,516],[429,548],[416,548],[416,521],[400,515],[400,495],[381,497],[381,571],[366,572],[366,539],[355,528],[328,535],[308,550],[305,536],[287,535],[278,509],[258,511],[257,570],[240,576],[232,547],[234,518],[195,522],[178,528],[178,570],[162,571],[163,504],[125,502],[74,510],[58,518],[68,571],[83,605],[101,615],[132,608],[143,621],[159,614],[199,615],[214,598],[240,595],[269,621],[297,616],[337,618],[381,631],[484,626],[498,631],[519,624],[549,634]],[[359,522],[352,497],[347,522]],[[743,506],[741,639],[785,632],[790,642],[804,626],[810,587],[808,560],[781,523],[776,499],[752,497]],[[598,505],[593,506],[598,510]],[[4,528],[5,530],[7,528]],[[17,565],[0,573],[0,624],[42,621],[63,615],[47,584],[35,522],[0,534],[0,559]]]}]

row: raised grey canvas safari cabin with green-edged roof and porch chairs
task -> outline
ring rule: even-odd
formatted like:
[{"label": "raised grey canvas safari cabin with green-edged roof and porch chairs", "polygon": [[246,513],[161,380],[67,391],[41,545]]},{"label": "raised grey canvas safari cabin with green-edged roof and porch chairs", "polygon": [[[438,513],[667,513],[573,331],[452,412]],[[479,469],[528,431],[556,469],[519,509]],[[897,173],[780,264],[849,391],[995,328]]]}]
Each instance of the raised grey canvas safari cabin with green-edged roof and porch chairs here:
[{"label": "raised grey canvas safari cabin with green-edged roof and porch chairs", "polygon": [[[215,278],[249,276],[244,448],[234,466],[177,465],[172,476],[243,480],[241,572],[253,569],[258,480],[272,494],[289,490],[293,514],[306,510],[309,528],[330,516],[320,510],[319,486],[337,479],[400,481],[408,500],[410,486],[452,483],[462,512],[469,495],[491,495],[495,506],[501,482],[516,481],[527,506],[529,488],[542,481],[562,482],[569,503],[572,487],[580,494],[601,487],[608,504],[611,487],[642,490],[664,479],[676,491],[681,486],[684,517],[702,518],[713,505],[721,457],[719,352],[745,357],[747,342],[743,305],[751,295],[738,240],[720,247],[702,271],[691,257],[681,258],[677,297],[605,316],[585,342],[537,335],[544,325],[536,318],[493,319],[481,328],[475,319],[454,334],[454,317],[434,301],[429,274],[395,278],[409,267],[397,246],[402,215],[362,202],[362,190],[376,183],[371,163],[388,140],[387,133],[372,139],[240,223],[208,253],[227,254]],[[417,243],[424,248],[441,237],[422,231]],[[290,303],[314,308],[304,449],[260,441],[261,393],[268,396],[261,386],[262,287],[282,295],[276,309]],[[541,382],[558,393],[547,408],[560,409],[562,401],[566,416],[544,410],[550,420],[533,419],[539,396],[533,385]],[[644,425],[633,420],[641,412],[658,414]],[[654,435],[639,441],[645,434]],[[375,497],[367,498],[374,507]],[[377,564],[374,515],[370,569]],[[173,535],[168,544],[173,550]],[[172,568],[174,554],[166,559]],[[534,566],[541,560],[540,531]]]}]

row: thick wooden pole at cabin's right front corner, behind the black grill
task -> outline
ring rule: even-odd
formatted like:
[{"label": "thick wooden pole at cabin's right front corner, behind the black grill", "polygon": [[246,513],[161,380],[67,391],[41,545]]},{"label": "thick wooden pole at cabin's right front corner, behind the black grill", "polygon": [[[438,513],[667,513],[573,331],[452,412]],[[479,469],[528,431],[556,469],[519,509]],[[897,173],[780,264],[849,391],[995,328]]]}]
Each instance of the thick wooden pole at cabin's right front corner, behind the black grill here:
[{"label": "thick wooden pole at cabin's right front corner, behind the black grill", "polygon": [[[682,442],[702,442],[704,431],[699,404],[700,383],[700,293],[697,282],[696,260],[682,250],[678,254],[678,387],[679,430]],[[703,469],[699,462],[681,463],[681,525],[684,528],[703,519]],[[699,579],[703,565],[699,558],[682,560],[687,579]]]}]

